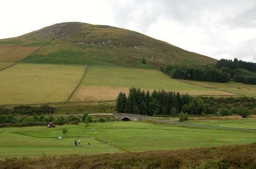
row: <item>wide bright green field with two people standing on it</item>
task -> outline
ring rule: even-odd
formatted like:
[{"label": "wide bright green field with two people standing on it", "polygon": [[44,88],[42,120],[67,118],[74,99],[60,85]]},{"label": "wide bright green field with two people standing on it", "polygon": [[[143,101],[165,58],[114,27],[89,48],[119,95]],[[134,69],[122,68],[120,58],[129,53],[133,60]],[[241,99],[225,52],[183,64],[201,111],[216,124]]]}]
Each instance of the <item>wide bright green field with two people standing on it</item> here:
[{"label": "wide bright green field with two people standing on it", "polygon": [[[65,135],[61,132],[61,128],[64,127],[68,129]],[[63,136],[63,140],[56,140],[58,136]],[[75,139],[81,140],[80,147],[74,146]],[[189,128],[145,122],[91,123],[87,128],[84,124],[56,128],[45,126],[0,128],[0,158],[176,150],[238,145],[254,141],[255,132]],[[88,142],[91,145],[88,145]]]}]

